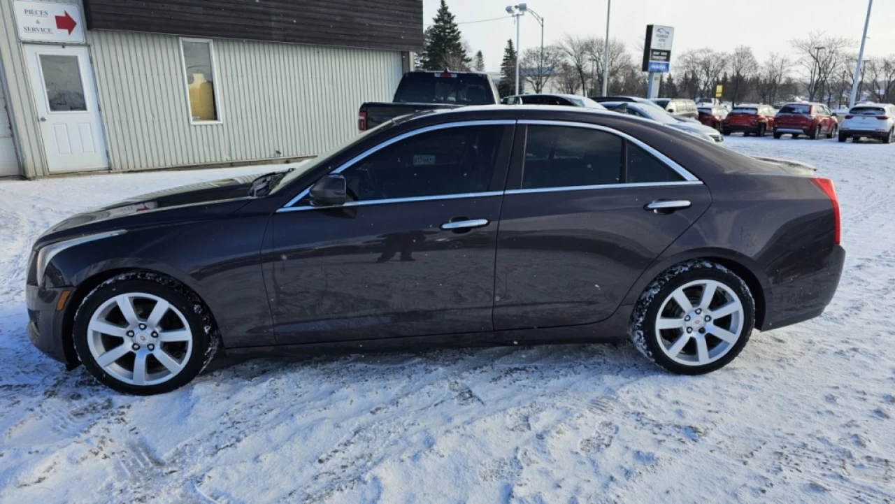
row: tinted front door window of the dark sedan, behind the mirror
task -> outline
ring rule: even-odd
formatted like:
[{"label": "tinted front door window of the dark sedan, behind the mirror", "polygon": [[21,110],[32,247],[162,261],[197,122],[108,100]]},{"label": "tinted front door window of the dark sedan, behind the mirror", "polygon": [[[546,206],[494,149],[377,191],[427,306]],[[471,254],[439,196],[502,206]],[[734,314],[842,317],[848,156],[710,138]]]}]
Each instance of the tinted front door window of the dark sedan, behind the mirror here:
[{"label": "tinted front door window of the dark sedan, behind the mirror", "polygon": [[487,192],[502,126],[447,128],[374,152],[342,175],[356,201]]}]

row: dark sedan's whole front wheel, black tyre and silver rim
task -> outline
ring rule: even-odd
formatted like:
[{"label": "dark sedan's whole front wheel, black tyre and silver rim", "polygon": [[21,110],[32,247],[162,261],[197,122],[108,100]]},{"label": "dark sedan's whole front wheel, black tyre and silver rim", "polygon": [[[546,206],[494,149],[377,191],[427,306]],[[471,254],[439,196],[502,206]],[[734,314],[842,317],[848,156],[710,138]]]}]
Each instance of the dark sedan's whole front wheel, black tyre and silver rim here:
[{"label": "dark sedan's whole front wheel, black tyre and silver rim", "polygon": [[211,362],[217,341],[217,327],[198,296],[150,273],[108,280],[75,314],[74,347],[84,367],[127,394],[183,387]]}]

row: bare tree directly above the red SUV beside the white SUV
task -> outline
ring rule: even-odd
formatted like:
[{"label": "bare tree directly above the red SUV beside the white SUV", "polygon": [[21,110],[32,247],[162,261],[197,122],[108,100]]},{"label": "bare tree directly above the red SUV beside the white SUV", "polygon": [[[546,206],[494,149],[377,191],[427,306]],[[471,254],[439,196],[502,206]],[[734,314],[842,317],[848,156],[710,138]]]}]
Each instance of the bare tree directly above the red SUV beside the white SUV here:
[{"label": "bare tree directly above the red SUV beside the white SUV", "polygon": [[[789,43],[798,53],[802,75],[808,81],[808,100],[822,97],[823,88],[830,87],[830,80],[845,62],[846,51],[854,46],[850,38],[833,37],[823,31],[813,31],[807,38],[797,38]],[[828,93],[829,95],[829,93]],[[826,101],[829,101],[829,96]]]}]

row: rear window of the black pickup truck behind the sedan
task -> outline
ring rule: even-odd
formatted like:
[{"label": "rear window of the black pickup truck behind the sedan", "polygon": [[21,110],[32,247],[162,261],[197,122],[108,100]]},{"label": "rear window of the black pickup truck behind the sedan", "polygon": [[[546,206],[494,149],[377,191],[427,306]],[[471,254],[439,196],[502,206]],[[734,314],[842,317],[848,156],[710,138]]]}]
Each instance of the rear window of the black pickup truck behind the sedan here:
[{"label": "rear window of the black pickup truck behind the sedan", "polygon": [[464,73],[408,73],[395,93],[397,103],[488,105],[490,86],[482,75]]}]

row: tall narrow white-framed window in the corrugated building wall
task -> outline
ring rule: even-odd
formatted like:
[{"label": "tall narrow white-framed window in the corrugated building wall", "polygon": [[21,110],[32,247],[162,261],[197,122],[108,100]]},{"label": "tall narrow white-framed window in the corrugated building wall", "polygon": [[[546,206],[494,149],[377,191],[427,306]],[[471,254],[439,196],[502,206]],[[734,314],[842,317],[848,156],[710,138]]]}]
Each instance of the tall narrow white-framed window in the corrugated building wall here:
[{"label": "tall narrow white-framed window in the corrugated building wall", "polygon": [[217,123],[217,80],[214,43],[201,38],[181,38],[186,92],[192,123]]}]

